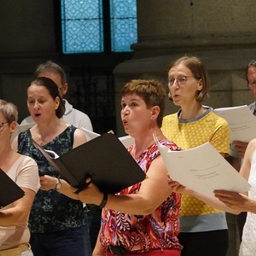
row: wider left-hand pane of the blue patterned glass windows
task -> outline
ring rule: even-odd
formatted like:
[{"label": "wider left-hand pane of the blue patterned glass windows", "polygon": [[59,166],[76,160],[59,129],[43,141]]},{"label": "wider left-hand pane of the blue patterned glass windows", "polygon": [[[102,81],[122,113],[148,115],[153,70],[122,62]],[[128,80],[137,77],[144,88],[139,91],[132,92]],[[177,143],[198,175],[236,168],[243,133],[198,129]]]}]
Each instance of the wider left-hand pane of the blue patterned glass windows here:
[{"label": "wider left-hand pane of the blue patterned glass windows", "polygon": [[101,0],[61,0],[63,53],[103,51]]}]

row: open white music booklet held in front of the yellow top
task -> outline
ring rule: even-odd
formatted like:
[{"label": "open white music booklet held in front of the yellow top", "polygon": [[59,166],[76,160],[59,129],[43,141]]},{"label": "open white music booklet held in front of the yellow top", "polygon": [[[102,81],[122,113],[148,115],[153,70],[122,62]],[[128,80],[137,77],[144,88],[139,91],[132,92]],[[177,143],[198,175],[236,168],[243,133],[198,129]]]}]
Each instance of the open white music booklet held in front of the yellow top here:
[{"label": "open white music booklet held in front of the yellow top", "polygon": [[250,188],[211,143],[183,151],[171,151],[159,142],[157,145],[172,180],[190,189],[213,196],[215,189],[245,192]]}]

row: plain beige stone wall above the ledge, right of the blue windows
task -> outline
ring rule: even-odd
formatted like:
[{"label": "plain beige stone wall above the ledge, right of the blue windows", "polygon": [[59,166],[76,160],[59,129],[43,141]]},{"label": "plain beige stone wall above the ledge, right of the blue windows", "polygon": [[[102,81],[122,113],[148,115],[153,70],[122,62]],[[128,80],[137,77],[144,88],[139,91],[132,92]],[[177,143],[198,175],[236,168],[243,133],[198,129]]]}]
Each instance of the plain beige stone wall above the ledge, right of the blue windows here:
[{"label": "plain beige stone wall above the ledge, right of the blue windows", "polygon": [[138,41],[250,37],[253,0],[137,0]]}]

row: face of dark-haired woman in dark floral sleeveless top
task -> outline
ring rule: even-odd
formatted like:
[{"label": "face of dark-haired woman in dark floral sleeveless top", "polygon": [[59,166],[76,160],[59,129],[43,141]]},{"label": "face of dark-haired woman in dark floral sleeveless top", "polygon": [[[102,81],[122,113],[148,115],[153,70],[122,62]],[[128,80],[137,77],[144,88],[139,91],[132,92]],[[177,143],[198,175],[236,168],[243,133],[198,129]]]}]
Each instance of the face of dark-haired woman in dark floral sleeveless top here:
[{"label": "face of dark-haired woman in dark floral sleeveless top", "polygon": [[60,98],[50,96],[44,86],[32,84],[27,89],[27,108],[36,123],[44,123],[56,116],[55,109],[60,104]]}]

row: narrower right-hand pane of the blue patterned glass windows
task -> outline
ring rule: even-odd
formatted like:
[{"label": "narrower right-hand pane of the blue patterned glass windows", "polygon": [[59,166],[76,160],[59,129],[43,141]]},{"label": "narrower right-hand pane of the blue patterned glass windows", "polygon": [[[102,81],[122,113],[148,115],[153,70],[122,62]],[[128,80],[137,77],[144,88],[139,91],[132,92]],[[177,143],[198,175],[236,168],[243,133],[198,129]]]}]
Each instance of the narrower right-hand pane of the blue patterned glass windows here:
[{"label": "narrower right-hand pane of the blue patterned glass windows", "polygon": [[137,42],[136,0],[110,0],[110,17],[112,51],[131,51]]}]

